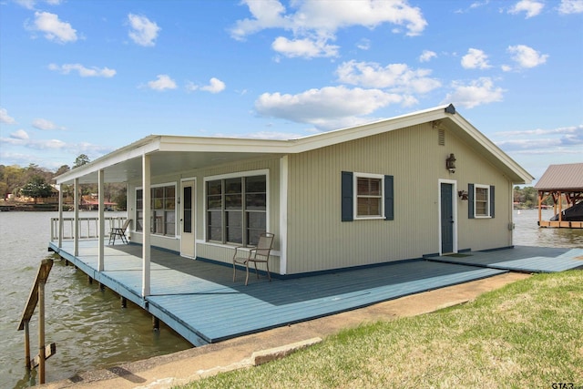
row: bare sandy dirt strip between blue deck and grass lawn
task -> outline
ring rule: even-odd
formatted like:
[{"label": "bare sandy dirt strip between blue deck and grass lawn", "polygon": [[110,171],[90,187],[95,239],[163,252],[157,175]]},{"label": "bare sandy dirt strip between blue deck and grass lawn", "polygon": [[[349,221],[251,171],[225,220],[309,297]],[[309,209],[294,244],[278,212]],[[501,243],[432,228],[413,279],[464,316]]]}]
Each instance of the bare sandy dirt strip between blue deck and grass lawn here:
[{"label": "bare sandy dirt strip between blue deck and grass lawn", "polygon": [[179,353],[158,356],[135,363],[77,374],[68,380],[42,385],[43,388],[143,388],[166,389],[187,384],[201,377],[252,365],[251,354],[325,338],[344,328],[363,322],[392,320],[469,302],[484,292],[501,288],[510,282],[527,278],[522,273],[505,273],[494,277],[466,282],[435,291],[423,292],[366,308],[343,312],[321,319],[288,325],[263,333],[255,333],[221,343],[212,343]]}]

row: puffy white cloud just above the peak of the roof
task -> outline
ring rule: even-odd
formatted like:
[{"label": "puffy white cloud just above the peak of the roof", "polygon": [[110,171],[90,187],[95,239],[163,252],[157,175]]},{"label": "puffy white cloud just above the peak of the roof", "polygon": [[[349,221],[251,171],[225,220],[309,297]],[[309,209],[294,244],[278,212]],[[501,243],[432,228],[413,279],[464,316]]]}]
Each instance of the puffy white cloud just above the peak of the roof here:
[{"label": "puffy white cloud just above the peak of the roof", "polygon": [[469,85],[454,81],[452,87],[454,91],[448,93],[442,103],[450,102],[466,108],[502,101],[505,92],[501,87],[494,87],[489,77],[478,78]]}]

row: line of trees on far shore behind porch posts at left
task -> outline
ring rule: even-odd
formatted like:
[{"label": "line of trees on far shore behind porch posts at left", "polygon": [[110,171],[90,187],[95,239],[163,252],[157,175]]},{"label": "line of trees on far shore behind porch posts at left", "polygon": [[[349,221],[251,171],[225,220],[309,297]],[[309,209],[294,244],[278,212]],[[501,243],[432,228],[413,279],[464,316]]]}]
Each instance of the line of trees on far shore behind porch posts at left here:
[{"label": "line of trees on far shore behind porch posts at left", "polygon": [[[85,154],[81,154],[75,159],[73,167],[63,165],[56,171],[42,168],[31,163],[26,168],[18,165],[0,165],[0,193],[5,202],[23,202],[26,199],[33,199],[36,203],[39,199],[50,199],[55,197],[55,189],[51,186],[56,176],[66,173],[71,169],[76,169],[89,163],[90,160]],[[105,184],[105,201],[115,202],[119,210],[126,209],[127,189],[124,184]],[[96,195],[97,184],[80,185],[82,196]],[[63,186],[63,197],[72,199],[74,195],[73,186]]]}]

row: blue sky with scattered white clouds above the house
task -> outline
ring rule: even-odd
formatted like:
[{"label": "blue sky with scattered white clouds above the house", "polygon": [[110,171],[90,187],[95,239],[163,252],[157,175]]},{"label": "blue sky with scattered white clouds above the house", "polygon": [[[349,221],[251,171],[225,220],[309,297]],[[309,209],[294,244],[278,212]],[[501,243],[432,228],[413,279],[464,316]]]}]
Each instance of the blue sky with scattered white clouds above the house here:
[{"label": "blue sky with scattered white clouds above the house", "polygon": [[537,178],[583,162],[583,0],[0,0],[3,165],[448,103]]}]

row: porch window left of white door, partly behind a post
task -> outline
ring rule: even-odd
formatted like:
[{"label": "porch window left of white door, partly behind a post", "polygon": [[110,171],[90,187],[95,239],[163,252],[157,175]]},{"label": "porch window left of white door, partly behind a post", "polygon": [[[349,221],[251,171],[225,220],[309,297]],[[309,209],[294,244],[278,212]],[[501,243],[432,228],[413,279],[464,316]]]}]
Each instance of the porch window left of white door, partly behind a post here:
[{"label": "porch window left of white door, partly behind a post", "polygon": [[[157,186],[150,189],[150,232],[156,235],[176,235],[176,186]],[[136,230],[144,230],[144,192],[136,190]]]}]

